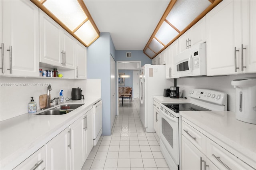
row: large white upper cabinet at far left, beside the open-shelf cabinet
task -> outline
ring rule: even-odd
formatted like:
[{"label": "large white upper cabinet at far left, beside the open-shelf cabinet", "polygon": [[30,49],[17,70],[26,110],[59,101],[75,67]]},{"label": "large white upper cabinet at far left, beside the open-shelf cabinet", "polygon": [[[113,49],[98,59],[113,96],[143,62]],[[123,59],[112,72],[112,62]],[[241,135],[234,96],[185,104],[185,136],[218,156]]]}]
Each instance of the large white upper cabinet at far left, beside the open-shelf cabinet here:
[{"label": "large white upper cabinet at far left, beside the open-shelf cabinet", "polygon": [[[39,75],[38,7],[30,1],[1,1],[1,75]],[[4,61],[4,62],[3,62]]]}]

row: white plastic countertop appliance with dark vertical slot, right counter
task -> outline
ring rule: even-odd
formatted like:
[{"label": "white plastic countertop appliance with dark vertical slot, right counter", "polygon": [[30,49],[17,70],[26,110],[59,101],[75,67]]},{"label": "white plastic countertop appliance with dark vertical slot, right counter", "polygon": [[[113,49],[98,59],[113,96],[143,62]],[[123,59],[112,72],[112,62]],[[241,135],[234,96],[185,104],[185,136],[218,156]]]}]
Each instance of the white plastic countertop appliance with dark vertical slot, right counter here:
[{"label": "white plastic countertop appliance with dark vertical slot, right counter", "polygon": [[256,77],[235,79],[236,119],[256,124]]}]

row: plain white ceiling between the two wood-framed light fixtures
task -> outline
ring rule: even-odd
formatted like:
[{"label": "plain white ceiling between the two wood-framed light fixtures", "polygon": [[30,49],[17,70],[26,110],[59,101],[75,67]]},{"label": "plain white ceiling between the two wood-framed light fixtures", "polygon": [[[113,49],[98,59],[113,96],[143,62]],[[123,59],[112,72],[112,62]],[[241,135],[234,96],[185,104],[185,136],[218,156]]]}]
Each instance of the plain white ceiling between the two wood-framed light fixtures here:
[{"label": "plain white ceiling between the two wood-framed light fixtures", "polygon": [[84,0],[100,32],[116,50],[143,50],[170,0]]}]

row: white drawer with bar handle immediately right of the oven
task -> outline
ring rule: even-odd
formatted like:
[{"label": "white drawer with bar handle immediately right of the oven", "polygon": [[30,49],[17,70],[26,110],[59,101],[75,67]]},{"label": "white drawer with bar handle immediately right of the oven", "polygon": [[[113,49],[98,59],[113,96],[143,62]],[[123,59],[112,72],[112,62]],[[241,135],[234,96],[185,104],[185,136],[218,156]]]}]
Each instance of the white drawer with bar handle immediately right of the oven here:
[{"label": "white drawer with bar handle immediately right of the oven", "polygon": [[181,131],[192,144],[194,144],[201,152],[206,153],[206,136],[195,128],[182,121]]}]

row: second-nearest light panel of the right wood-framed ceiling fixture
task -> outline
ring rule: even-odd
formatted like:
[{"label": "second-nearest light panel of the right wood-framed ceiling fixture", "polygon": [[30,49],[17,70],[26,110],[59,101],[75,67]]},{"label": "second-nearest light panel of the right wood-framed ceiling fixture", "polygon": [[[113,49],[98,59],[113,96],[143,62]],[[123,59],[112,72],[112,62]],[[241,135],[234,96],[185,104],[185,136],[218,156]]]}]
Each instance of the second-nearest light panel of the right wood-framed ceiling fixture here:
[{"label": "second-nearest light panel of the right wood-framed ceiling fixture", "polygon": [[163,22],[162,26],[156,33],[156,38],[164,43],[165,45],[168,44],[172,39],[174,39],[179,33],[174,30],[167,22]]}]

